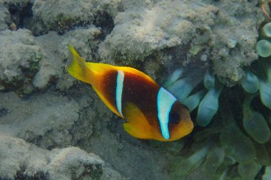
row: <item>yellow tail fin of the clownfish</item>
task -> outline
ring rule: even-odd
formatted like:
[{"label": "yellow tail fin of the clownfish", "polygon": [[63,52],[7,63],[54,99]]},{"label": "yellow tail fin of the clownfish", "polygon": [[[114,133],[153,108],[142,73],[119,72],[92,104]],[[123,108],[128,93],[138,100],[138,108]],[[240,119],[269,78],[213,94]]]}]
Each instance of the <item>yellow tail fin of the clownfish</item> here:
[{"label": "yellow tail fin of the clownfish", "polygon": [[91,84],[93,73],[86,65],[86,61],[78,55],[72,46],[68,46],[68,48],[71,51],[67,66],[68,73],[78,80]]}]

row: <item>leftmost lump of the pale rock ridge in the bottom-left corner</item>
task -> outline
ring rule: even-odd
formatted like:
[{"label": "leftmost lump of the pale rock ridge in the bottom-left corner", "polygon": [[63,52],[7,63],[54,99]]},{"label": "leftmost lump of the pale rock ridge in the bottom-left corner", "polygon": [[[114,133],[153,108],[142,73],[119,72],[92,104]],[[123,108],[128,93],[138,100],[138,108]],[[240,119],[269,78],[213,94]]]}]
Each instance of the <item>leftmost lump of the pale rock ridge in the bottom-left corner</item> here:
[{"label": "leftmost lump of the pale rock ridge in the bottom-left corner", "polygon": [[39,149],[23,139],[0,134],[0,179],[15,179],[16,174],[44,176],[48,150]]}]

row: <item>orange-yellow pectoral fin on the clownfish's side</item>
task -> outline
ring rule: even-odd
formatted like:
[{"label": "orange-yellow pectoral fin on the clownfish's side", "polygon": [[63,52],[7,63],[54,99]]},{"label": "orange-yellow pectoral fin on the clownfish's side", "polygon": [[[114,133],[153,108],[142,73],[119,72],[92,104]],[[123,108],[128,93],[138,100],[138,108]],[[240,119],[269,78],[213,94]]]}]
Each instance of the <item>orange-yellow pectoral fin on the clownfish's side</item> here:
[{"label": "orange-yellow pectoral fin on the clownfish's side", "polygon": [[139,139],[154,139],[152,127],[135,104],[126,103],[123,108],[123,117],[128,121],[123,124],[128,134]]}]

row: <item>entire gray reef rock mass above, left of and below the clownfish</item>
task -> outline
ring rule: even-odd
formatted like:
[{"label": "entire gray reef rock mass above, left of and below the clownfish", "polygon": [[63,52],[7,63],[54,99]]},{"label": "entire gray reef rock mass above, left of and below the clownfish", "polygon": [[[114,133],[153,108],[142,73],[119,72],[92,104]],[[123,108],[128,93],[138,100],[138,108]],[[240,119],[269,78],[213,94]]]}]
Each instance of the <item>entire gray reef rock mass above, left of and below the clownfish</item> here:
[{"label": "entire gray reef rock mass above, left of and below the clownfish", "polygon": [[[32,4],[33,16],[20,16]],[[22,24],[9,31],[15,15]],[[232,85],[257,59],[262,20],[256,0],[0,0],[0,90],[41,90],[23,99],[0,92],[0,179],[169,179],[174,157],[165,144],[128,135],[94,90],[68,75],[68,45],[88,61],[130,65],[158,79],[161,68],[173,72],[169,64],[208,64]],[[98,154],[121,174],[76,147],[53,149],[68,146]]]}]

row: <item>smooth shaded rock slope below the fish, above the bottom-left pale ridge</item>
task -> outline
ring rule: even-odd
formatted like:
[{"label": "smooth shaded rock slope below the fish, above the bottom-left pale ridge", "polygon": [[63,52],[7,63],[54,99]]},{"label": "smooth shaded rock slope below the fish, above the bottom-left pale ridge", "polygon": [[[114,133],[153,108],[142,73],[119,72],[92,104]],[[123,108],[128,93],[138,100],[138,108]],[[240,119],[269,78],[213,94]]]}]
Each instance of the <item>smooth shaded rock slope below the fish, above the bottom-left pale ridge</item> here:
[{"label": "smooth shaded rock slope below the fish, above the bottom-left pale ridge", "polygon": [[[77,146],[98,154],[109,168],[104,175],[107,179],[121,179],[116,171],[138,179],[146,176],[168,179],[163,171],[168,157],[165,152],[156,152],[126,134],[91,88],[76,86],[73,90],[69,97],[50,90],[24,98],[14,92],[0,93],[0,132],[43,149]],[[149,165],[156,163],[159,166]],[[24,169],[20,172],[24,173]]]}]

